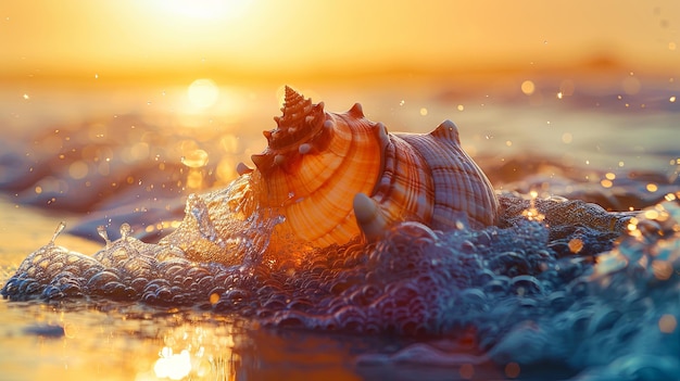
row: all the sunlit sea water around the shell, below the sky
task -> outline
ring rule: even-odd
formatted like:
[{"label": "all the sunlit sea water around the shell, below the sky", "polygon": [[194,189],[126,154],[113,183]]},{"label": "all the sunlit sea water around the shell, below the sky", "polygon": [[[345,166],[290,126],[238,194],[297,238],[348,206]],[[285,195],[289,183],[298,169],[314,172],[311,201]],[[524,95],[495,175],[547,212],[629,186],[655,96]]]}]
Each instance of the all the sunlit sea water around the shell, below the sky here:
[{"label": "all the sunlit sea water around the shell, below the sky", "polygon": [[280,88],[221,87],[206,109],[186,87],[3,92],[3,377],[677,379],[678,85],[525,80],[299,87],[391,131],[454,120],[498,227],[403,224],[300,257],[267,247],[275,218],[225,206],[214,262],[156,243],[192,193],[248,202],[229,183]]}]

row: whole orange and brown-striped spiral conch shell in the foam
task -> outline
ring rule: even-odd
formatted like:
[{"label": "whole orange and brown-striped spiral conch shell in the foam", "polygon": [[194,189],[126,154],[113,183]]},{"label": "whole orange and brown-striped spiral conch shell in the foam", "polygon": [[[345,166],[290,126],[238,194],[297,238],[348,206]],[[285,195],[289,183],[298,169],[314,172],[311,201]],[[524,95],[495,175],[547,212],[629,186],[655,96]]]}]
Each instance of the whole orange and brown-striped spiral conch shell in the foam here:
[{"label": "whole orange and brown-striped spiral conch shell in the foam", "polygon": [[324,111],[286,87],[268,147],[239,164],[257,189],[261,207],[285,217],[279,233],[312,246],[379,238],[391,225],[417,220],[451,229],[493,225],[499,203],[481,169],[463,151],[450,120],[426,135],[388,134],[355,103],[342,114]]}]

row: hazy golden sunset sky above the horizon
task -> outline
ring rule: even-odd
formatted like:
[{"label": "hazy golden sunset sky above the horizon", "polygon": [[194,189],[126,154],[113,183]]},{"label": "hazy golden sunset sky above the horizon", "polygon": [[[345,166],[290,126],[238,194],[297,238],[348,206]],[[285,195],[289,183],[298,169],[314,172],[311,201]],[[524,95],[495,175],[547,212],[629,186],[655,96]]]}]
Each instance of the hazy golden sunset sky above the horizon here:
[{"label": "hazy golden sunset sky above the horizon", "polygon": [[680,68],[680,1],[22,0],[0,78]]}]

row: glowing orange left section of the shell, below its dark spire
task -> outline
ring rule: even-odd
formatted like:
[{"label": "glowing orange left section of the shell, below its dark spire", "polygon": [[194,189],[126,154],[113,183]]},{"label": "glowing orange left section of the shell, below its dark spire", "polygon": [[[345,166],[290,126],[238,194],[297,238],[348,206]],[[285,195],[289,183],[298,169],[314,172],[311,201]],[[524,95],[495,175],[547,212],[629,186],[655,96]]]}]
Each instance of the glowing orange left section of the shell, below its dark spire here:
[{"label": "glowing orange left section of the shell, below its dark spire", "polygon": [[[358,192],[370,194],[378,179],[378,128],[382,126],[363,115],[357,117],[361,112],[353,110],[324,113],[317,120],[324,124],[320,129],[295,126],[302,140],[291,140],[282,148],[269,144],[262,155],[253,157],[260,169],[254,174],[255,185],[262,190],[260,205],[277,208],[285,217],[279,233],[294,236],[312,246],[342,244],[360,234],[352,200]],[[281,119],[277,130],[281,129]],[[311,137],[300,134],[301,128],[319,131]],[[312,147],[301,153],[302,144]]]}]

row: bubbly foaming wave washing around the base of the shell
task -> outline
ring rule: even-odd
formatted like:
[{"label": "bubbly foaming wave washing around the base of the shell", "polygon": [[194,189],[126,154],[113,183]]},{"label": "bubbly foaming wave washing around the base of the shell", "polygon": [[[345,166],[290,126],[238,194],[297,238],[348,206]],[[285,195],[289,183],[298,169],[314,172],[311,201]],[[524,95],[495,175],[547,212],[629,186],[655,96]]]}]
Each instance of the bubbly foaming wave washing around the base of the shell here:
[{"label": "bubbly foaming wave washing around the base of the shell", "polygon": [[[672,355],[680,351],[677,194],[633,218],[504,193],[499,227],[441,232],[404,223],[372,245],[312,250],[276,237],[280,217],[257,208],[242,178],[189,198],[182,226],[160,244],[135,239],[123,225],[113,242],[101,229],[106,245],[89,257],[55,246],[55,234],[2,294],[196,306],[277,328],[458,344],[473,338],[474,350],[463,354],[425,340],[391,355],[362,355],[360,366],[492,361],[518,374],[551,363],[587,369],[582,379],[680,370]],[[527,209],[544,219],[529,220]]]}]

